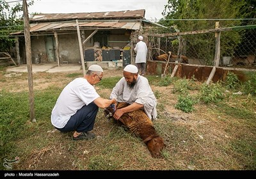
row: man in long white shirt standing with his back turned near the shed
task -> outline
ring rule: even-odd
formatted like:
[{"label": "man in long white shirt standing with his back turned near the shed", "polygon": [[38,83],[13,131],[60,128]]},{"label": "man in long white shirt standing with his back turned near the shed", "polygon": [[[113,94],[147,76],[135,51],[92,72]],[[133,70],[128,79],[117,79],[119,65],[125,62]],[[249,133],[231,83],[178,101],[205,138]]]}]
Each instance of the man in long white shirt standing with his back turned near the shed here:
[{"label": "man in long white shirt standing with his back turned near the shed", "polygon": [[147,44],[143,42],[143,36],[139,36],[138,39],[140,40],[140,42],[136,43],[136,46],[134,48],[134,51],[136,52],[135,65],[138,67],[141,75],[144,76],[146,74],[148,47]]}]

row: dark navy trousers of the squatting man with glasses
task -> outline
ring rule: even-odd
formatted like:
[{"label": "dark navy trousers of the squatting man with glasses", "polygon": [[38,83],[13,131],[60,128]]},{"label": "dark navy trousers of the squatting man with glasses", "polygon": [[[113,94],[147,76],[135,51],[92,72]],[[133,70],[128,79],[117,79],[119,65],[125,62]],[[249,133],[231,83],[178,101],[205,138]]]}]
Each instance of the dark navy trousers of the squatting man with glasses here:
[{"label": "dark navy trousers of the squatting man with glasses", "polygon": [[76,130],[76,132],[90,131],[93,129],[98,111],[99,107],[94,102],[91,102],[88,105],[84,105],[76,112],[76,114],[70,117],[65,127],[57,129],[61,132],[74,130]]}]

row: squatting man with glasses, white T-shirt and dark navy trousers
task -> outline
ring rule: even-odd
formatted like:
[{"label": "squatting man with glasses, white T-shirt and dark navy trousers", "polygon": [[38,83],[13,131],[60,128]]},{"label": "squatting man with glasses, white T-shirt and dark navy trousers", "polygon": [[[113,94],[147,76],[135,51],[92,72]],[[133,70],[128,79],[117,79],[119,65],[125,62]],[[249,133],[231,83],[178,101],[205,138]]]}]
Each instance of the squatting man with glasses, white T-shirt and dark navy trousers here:
[{"label": "squatting man with glasses, white T-shirt and dark navy trousers", "polygon": [[74,131],[73,140],[94,138],[95,134],[89,131],[93,129],[99,107],[116,103],[115,99],[101,98],[93,87],[102,77],[101,66],[89,66],[84,77],[78,77],[65,86],[52,109],[52,125],[61,132]]}]

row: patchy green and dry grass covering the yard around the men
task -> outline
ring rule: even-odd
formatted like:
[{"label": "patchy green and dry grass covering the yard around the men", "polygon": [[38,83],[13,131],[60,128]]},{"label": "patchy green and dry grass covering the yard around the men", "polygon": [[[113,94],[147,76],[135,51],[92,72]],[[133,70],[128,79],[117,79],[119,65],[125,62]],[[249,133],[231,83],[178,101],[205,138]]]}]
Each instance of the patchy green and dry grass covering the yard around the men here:
[{"label": "patchy green and dry grass covering the yard around the men", "polygon": [[[76,74],[69,77],[74,78]],[[49,74],[46,78],[51,81],[54,75]],[[154,75],[147,78],[155,86],[162,80]],[[111,91],[119,79],[103,78],[97,84],[100,96],[108,96],[106,91]],[[180,86],[186,84],[183,88],[191,86],[184,79],[180,82]],[[15,169],[29,169],[29,166],[30,169],[79,170],[256,169],[255,95],[223,95],[217,102],[209,100],[207,104],[196,103],[193,106],[187,106],[192,98],[186,102],[189,97],[186,96],[182,109],[193,107],[193,111],[188,114],[175,109],[168,114],[165,112],[170,110],[170,99],[178,101],[179,95],[157,89],[154,93],[159,116],[153,123],[166,148],[162,152],[163,157],[154,159],[140,138],[115,121],[107,120],[102,109],[97,114],[93,129],[98,137],[92,141],[72,141],[72,132],[54,132],[51,111],[62,89],[50,86],[34,91],[36,122],[29,121],[28,91],[0,91],[1,162],[4,158],[19,156],[20,162],[15,164]],[[188,93],[195,92],[194,89],[188,88]],[[197,89],[201,90],[196,86]],[[218,98],[218,93],[225,90],[220,89],[223,88],[213,86],[209,89],[205,86],[202,89],[204,95],[192,94],[193,99]],[[172,115],[183,116],[184,120],[172,120]],[[0,169],[5,170],[3,165]]]}]

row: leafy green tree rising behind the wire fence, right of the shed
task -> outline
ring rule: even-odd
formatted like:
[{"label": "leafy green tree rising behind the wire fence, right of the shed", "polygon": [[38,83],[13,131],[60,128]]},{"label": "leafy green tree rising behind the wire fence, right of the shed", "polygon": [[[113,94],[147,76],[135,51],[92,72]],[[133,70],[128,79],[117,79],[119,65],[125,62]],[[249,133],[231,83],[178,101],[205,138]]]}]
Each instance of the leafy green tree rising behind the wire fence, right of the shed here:
[{"label": "leafy green tree rising behind the wire fence, right of the shed", "polygon": [[[181,32],[202,29],[214,29],[218,20],[210,19],[243,19],[248,13],[242,11],[251,7],[245,0],[168,0],[162,13],[165,19],[160,24],[177,26]],[[189,19],[189,20],[172,20]],[[204,20],[205,19],[205,20]],[[209,20],[206,20],[209,19]],[[220,27],[241,26],[241,20],[221,20]],[[238,31],[221,33],[221,56],[232,56],[242,36]],[[186,36],[187,51],[197,49],[195,58],[205,59],[212,65],[214,59],[214,33]],[[189,50],[189,47],[193,48]]]}]

